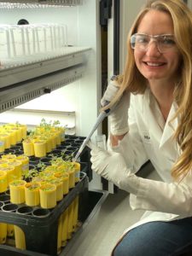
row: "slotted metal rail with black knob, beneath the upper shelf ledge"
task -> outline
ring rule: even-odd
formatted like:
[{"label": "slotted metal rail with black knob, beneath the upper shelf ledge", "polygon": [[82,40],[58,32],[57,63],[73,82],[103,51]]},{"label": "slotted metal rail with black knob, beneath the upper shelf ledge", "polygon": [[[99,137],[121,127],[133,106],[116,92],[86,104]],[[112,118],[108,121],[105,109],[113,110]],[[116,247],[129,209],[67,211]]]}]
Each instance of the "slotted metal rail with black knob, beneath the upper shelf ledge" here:
[{"label": "slotted metal rail with black knob, beneath the upper shelf ledge", "polygon": [[0,113],[73,83],[84,75],[84,70],[84,64],[79,64],[0,89]]}]

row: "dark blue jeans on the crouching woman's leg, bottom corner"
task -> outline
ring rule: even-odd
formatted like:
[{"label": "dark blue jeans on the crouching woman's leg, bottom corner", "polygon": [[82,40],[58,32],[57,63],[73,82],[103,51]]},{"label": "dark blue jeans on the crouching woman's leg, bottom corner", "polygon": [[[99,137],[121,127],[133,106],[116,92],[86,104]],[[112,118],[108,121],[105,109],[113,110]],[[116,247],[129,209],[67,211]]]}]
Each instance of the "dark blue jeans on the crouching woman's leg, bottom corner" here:
[{"label": "dark blue jeans on the crouching woman's leg, bottom corner", "polygon": [[183,218],[154,221],[130,230],[115,247],[113,256],[176,256],[190,250],[192,218]]}]

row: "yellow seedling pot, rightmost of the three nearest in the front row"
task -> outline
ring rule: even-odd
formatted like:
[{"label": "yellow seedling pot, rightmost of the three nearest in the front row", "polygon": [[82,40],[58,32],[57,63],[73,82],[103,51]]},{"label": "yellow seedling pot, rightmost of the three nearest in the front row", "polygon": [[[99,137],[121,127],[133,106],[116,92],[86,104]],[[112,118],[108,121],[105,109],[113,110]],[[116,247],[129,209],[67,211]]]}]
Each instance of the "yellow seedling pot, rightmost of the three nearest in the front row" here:
[{"label": "yellow seedling pot, rightmost of the three nearest in the front row", "polygon": [[40,189],[40,205],[42,208],[50,209],[56,206],[56,186],[55,184],[45,183]]}]

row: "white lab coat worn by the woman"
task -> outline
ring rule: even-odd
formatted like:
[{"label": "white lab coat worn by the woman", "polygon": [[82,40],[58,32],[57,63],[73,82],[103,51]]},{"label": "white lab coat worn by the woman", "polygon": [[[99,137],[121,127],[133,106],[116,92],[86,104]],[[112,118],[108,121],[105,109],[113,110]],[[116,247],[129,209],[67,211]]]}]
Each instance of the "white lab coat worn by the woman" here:
[{"label": "white lab coat worn by the woman", "polygon": [[[174,183],[171,169],[180,154],[175,139],[172,138],[177,128],[177,119],[170,124],[176,112],[177,104],[173,102],[164,129],[160,128],[162,115],[157,117],[154,108],[158,108],[150,90],[144,95],[131,96],[129,109],[130,131],[119,143],[108,150],[124,155],[131,172],[137,172],[146,160],[150,160],[162,181],[138,177],[137,195],[130,195],[133,210],[146,210],[141,220],[129,229],[151,221],[171,221],[192,216],[192,174],[189,172],[182,182]],[[160,110],[159,110],[160,112]],[[127,216],[129,218],[129,216]]]}]

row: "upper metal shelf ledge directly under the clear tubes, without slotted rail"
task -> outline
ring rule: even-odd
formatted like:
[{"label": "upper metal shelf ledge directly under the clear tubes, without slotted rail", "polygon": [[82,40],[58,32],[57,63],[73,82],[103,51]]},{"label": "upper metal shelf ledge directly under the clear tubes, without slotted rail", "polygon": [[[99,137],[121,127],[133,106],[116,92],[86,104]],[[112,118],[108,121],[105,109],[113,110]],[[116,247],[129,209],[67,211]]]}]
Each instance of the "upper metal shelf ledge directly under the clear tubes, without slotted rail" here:
[{"label": "upper metal shelf ledge directly under the clear tubes, without slotted rail", "polygon": [[55,53],[55,55],[49,57],[46,54],[37,55],[33,60],[32,56],[26,56],[25,61],[20,60],[20,58],[2,61],[0,89],[11,84],[18,84],[28,79],[38,78],[45,74],[84,63],[86,62],[86,54],[89,51],[90,48],[85,47],[66,47],[62,53]]}]

